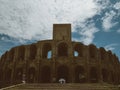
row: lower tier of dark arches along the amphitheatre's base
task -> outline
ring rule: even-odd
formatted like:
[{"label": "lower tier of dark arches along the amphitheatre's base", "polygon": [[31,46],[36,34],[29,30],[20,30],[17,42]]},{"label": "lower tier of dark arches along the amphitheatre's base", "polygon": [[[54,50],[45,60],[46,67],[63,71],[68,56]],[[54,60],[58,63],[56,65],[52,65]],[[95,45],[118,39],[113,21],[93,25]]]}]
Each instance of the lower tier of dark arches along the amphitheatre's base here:
[{"label": "lower tier of dark arches along the amphitheatre's base", "polygon": [[66,65],[60,65],[56,68],[43,66],[40,70],[34,67],[24,70],[18,68],[14,72],[6,69],[0,73],[1,83],[59,83],[60,79],[64,79],[66,83],[112,83],[119,84],[119,73],[97,67],[86,68],[84,66],[75,66],[74,68]]}]

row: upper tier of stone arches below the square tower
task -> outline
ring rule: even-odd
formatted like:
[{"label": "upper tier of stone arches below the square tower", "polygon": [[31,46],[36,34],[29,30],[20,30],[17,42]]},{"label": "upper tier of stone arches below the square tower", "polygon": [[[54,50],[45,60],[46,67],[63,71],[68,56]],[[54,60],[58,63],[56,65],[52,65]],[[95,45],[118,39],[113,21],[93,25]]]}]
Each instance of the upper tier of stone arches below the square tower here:
[{"label": "upper tier of stone arches below the square tower", "polygon": [[37,57],[43,59],[51,59],[53,57],[88,57],[95,60],[101,60],[102,63],[110,61],[111,63],[119,63],[118,57],[111,51],[106,51],[103,47],[96,48],[95,45],[88,46],[80,42],[54,42],[42,41],[31,45],[22,45],[12,48],[2,55],[1,61],[14,60],[35,60]]}]

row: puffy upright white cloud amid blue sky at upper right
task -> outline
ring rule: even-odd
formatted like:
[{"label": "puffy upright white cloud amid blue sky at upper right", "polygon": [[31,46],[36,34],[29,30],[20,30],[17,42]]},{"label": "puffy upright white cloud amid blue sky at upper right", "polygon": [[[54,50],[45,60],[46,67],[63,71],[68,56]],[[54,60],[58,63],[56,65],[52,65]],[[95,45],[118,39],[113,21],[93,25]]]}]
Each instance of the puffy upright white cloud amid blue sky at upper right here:
[{"label": "puffy upright white cloud amid blue sky at upper right", "polygon": [[114,11],[110,11],[110,13],[107,12],[105,16],[102,18],[103,20],[102,25],[103,25],[104,31],[106,32],[110,31],[110,28],[112,28],[117,24],[112,22],[112,19],[114,18],[115,15],[116,13]]}]

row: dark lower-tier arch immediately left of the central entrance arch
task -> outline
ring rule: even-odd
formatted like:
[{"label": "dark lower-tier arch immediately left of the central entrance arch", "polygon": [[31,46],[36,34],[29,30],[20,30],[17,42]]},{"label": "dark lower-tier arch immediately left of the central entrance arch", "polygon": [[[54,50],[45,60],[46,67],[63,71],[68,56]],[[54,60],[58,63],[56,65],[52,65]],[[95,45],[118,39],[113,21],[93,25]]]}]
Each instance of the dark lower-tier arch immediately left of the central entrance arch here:
[{"label": "dark lower-tier arch immediately left of the central entrance arch", "polygon": [[42,67],[41,82],[42,83],[50,83],[51,82],[51,70],[50,70],[49,66]]}]

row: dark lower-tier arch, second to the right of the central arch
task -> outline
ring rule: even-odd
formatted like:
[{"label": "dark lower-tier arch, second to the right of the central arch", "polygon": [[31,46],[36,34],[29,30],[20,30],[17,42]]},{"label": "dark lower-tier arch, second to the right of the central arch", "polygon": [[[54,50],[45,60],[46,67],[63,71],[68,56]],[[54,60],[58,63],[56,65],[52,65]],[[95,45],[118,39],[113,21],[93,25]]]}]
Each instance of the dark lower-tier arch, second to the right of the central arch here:
[{"label": "dark lower-tier arch, second to the right of the central arch", "polygon": [[90,81],[92,83],[98,82],[98,74],[97,74],[97,69],[95,67],[90,68]]}]

